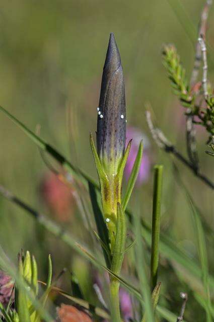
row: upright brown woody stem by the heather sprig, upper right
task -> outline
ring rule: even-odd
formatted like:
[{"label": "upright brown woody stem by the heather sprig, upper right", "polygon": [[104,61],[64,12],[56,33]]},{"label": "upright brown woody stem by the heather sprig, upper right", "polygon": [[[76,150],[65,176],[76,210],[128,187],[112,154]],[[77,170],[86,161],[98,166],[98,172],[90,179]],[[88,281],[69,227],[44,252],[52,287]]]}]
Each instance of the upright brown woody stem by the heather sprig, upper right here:
[{"label": "upright brown woody stem by the heather sprig, upper right", "polygon": [[[199,27],[198,27],[198,37],[201,37],[205,39],[205,32],[206,32],[206,27],[207,27],[207,18],[208,18],[208,13],[209,9],[211,7],[212,0],[207,0],[200,16],[200,22],[199,22]],[[190,78],[190,87],[192,88],[196,81],[197,81],[197,76],[200,68],[200,63],[202,60],[202,54],[201,54],[201,45],[199,41],[196,43],[196,48],[195,48],[195,60],[194,60],[194,66],[192,69],[192,74]],[[190,113],[191,110],[187,110],[187,114]],[[198,155],[197,155],[197,150],[196,150],[196,138],[195,138],[195,126],[193,124],[193,116],[192,115],[187,115],[186,117],[186,143],[187,143],[187,153],[189,156],[189,159],[191,160],[192,164],[194,165],[195,169],[197,170],[198,168]]]}]

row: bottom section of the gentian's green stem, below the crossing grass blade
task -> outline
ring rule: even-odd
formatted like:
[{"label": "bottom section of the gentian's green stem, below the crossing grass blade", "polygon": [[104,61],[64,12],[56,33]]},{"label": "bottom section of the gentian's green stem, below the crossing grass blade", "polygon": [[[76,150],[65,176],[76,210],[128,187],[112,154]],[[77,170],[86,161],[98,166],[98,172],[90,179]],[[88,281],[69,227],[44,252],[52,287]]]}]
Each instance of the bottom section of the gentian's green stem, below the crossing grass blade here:
[{"label": "bottom section of the gentian's green stem, below the crossing grass blade", "polygon": [[111,318],[112,322],[120,322],[120,300],[119,300],[120,283],[114,277],[110,278],[110,295],[111,295]]}]

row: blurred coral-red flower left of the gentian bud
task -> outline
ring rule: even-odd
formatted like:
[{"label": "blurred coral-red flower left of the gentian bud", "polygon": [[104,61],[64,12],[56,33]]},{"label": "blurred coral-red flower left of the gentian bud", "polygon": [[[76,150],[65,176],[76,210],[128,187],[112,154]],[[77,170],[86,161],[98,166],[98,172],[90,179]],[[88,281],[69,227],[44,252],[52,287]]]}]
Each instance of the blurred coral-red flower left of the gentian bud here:
[{"label": "blurred coral-red flower left of the gentian bud", "polygon": [[59,176],[47,173],[42,179],[40,191],[44,202],[56,218],[67,221],[75,207],[72,188],[66,186]]}]

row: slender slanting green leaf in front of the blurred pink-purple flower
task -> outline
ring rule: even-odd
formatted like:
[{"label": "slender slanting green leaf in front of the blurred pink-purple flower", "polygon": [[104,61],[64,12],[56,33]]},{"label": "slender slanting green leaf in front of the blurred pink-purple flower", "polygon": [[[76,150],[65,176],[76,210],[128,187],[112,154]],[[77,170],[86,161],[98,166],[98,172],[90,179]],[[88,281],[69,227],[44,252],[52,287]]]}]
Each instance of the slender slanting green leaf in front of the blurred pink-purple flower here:
[{"label": "slender slanting green leaf in front of the blurred pink-purple flower", "polygon": [[142,146],[142,141],[141,141],[139,144],[139,148],[137,151],[137,155],[136,155],[136,158],[134,161],[133,168],[131,170],[130,177],[128,179],[127,189],[126,189],[125,195],[122,200],[122,208],[124,211],[126,209],[126,206],[128,204],[129,198],[131,196],[132,190],[134,188],[134,185],[135,185],[135,182],[137,179],[137,175],[139,172],[139,167],[140,167],[140,163],[141,163],[141,159],[142,159],[142,150],[143,150],[143,146]]}]

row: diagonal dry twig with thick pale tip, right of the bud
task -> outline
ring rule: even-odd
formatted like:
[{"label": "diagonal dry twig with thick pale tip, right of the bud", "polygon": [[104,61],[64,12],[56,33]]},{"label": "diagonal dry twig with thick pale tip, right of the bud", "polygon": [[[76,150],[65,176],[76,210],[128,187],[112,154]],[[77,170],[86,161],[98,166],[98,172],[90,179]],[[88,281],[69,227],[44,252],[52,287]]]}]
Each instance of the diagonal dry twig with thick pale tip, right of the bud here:
[{"label": "diagonal dry twig with thick pale tip, right of the bud", "polygon": [[187,166],[197,178],[199,178],[208,187],[214,190],[214,183],[210,181],[205,175],[201,174],[199,171],[196,171],[193,164],[177,150],[177,148],[166,138],[164,133],[159,128],[154,127],[150,111],[146,111],[146,119],[149,129],[157,145],[160,148],[164,149],[166,152],[174,154],[177,159],[179,159],[185,166]]}]

